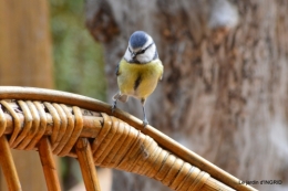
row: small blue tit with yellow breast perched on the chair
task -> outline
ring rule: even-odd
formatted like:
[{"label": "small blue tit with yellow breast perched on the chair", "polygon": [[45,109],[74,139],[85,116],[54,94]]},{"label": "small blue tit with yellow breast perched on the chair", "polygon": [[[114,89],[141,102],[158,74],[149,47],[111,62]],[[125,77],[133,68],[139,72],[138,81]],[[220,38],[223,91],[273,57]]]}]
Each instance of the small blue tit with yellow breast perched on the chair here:
[{"label": "small blue tit with yellow breast perched on the chair", "polygon": [[145,113],[145,100],[154,92],[163,75],[163,64],[153,39],[144,31],[134,32],[128,40],[128,46],[116,67],[119,93],[113,96],[112,112],[117,100],[126,103],[128,97],[141,100],[144,120],[148,124]]}]

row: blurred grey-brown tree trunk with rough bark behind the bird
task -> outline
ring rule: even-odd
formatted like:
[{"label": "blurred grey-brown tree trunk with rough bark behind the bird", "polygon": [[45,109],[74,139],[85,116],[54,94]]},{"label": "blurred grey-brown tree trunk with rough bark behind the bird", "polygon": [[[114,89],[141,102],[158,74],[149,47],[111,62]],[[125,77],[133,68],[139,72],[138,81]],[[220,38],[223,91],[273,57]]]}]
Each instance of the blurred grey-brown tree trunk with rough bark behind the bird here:
[{"label": "blurred grey-brown tree trunk with rough bark behind the bird", "polygon": [[[241,180],[287,184],[287,12],[285,0],[88,0],[86,24],[104,44],[109,98],[128,36],[144,30],[165,67],[147,100],[151,125]],[[138,102],[120,108],[142,117]],[[166,190],[113,177],[115,191]]]}]

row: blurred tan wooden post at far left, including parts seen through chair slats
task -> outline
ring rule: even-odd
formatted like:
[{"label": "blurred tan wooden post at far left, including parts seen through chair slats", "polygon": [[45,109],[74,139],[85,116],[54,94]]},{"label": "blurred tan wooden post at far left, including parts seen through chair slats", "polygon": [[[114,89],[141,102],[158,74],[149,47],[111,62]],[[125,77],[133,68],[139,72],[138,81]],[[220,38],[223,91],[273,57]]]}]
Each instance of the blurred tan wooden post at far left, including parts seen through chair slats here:
[{"label": "blurred tan wooden post at far left, including parts seen through chair slats", "polygon": [[[48,2],[0,0],[0,85],[52,88]],[[38,152],[12,152],[22,189],[47,190]]]}]

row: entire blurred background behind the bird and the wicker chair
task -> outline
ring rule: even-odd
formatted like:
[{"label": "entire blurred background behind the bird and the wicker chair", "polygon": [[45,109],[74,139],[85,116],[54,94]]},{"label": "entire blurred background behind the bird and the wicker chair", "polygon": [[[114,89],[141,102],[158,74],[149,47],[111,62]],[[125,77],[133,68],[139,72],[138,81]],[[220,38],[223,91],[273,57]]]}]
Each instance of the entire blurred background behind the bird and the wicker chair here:
[{"label": "entire blurred background behind the bird and the wicker chair", "polygon": [[[165,67],[147,100],[150,124],[241,180],[282,182],[259,190],[288,189],[287,0],[0,0],[0,85],[110,104],[130,35],[146,31]],[[142,118],[137,100],[119,107]],[[23,190],[45,190],[38,153],[13,158]],[[58,166],[63,190],[83,190],[76,160]],[[127,172],[99,173],[103,190],[168,190]]]}]

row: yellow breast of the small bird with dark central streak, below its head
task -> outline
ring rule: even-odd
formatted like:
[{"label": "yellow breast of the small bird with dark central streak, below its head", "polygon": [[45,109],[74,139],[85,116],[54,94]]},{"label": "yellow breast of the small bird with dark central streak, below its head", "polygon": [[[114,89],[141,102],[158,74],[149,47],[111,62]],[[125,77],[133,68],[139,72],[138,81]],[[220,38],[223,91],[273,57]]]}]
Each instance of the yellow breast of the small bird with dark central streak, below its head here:
[{"label": "yellow breast of the small bird with dark central streak, below its head", "polygon": [[119,65],[117,84],[121,94],[146,98],[162,78],[163,65],[160,60],[146,64],[131,64],[124,59]]}]

